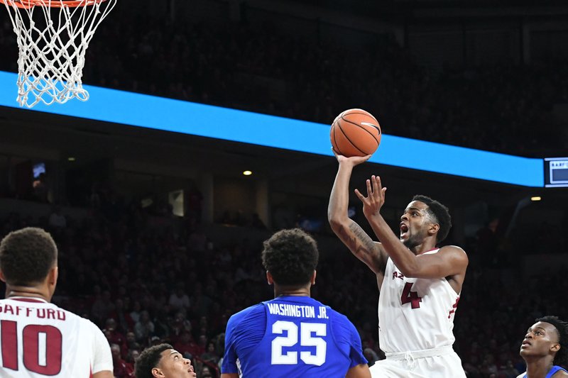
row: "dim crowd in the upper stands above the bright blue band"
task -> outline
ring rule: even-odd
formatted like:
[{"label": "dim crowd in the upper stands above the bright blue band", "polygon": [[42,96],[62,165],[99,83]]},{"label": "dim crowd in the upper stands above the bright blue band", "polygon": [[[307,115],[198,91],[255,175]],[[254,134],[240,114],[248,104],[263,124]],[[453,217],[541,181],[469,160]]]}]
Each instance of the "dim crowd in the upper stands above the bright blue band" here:
[{"label": "dim crowd in the upper stands above the bright blue band", "polygon": [[[283,35],[268,24],[112,16],[87,50],[87,84],[324,124],[358,107],[387,134],[515,155],[563,148],[565,135],[551,113],[568,102],[562,62],[432,72],[391,35],[346,46]],[[0,48],[0,70],[16,71],[7,18]]]}]

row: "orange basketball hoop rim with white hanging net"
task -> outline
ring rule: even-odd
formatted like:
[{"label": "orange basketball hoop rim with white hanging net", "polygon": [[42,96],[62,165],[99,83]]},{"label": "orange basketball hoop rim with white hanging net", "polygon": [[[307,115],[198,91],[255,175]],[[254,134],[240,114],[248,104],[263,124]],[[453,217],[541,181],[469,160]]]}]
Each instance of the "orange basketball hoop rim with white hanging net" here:
[{"label": "orange basketball hoop rim with white hanging net", "polygon": [[116,1],[0,0],[9,11],[20,50],[20,106],[89,99],[81,80],[84,55]]}]

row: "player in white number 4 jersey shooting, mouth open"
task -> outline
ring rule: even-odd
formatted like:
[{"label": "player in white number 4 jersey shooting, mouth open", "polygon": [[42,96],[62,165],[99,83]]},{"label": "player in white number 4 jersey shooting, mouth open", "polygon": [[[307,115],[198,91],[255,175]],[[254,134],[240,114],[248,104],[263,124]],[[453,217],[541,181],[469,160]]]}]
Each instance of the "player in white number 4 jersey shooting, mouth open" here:
[{"label": "player in white number 4 jersey shooting, mouth open", "polygon": [[381,178],[366,180],[364,215],[380,242],[347,216],[351,172],[371,157],[337,155],[339,169],[329,198],[327,216],[334,233],[376,274],[378,335],[386,360],[371,367],[372,377],[466,377],[454,343],[454,314],[468,258],[454,245],[437,248],[449,233],[446,206],[427,196],[415,196],[400,217],[400,236],[381,215],[386,187]]}]

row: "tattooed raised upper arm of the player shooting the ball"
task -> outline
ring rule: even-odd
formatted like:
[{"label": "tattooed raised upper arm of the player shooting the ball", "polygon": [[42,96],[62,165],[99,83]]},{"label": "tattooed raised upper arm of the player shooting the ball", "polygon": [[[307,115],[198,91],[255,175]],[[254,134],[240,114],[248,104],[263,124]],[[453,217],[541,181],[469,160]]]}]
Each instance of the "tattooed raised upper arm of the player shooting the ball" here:
[{"label": "tattooed raised upper arm of the player shooting the ball", "polygon": [[383,273],[387,255],[381,243],[373,239],[353,220],[347,218],[342,223],[332,223],[332,230],[359,260],[364,262],[375,274]]}]

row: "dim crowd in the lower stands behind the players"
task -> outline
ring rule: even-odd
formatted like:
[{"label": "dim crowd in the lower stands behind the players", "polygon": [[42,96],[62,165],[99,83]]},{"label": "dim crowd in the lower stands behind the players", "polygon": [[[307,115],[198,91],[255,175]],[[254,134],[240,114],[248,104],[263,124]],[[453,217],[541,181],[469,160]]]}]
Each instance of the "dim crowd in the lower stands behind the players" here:
[{"label": "dim crowd in the lower stands behind the players", "polygon": [[[53,301],[104,330],[117,378],[133,377],[141,350],[162,342],[191,357],[197,377],[219,377],[227,319],[273,296],[261,266],[264,236],[258,238],[253,225],[242,226],[239,240],[219,243],[194,218],[156,222],[159,216],[135,204],[118,208],[104,196],[101,201],[82,219],[62,216],[58,208],[37,219],[10,213],[0,219],[0,236],[24,226],[52,233],[60,250]],[[317,235],[326,237],[333,238]],[[546,272],[519,277],[515,267],[496,267],[476,257],[486,247],[479,239],[464,246],[471,263],[454,348],[468,377],[516,377],[524,366],[520,343],[532,321],[545,314],[568,318],[558,298],[568,283]],[[321,251],[312,296],[349,316],[371,364],[384,357],[377,340],[376,280],[339,242],[336,250]]]}]

